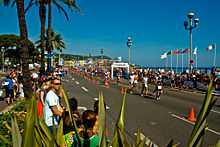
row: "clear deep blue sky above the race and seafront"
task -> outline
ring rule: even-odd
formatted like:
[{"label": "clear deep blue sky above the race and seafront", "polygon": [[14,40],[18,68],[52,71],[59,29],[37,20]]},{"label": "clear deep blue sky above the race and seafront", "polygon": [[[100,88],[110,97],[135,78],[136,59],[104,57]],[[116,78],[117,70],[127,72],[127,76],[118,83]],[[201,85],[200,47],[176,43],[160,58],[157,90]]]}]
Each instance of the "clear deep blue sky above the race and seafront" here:
[{"label": "clear deep blue sky above the race and seafront", "polygon": [[[127,37],[132,36],[131,62],[149,66],[163,66],[160,55],[165,51],[189,47],[189,32],[184,20],[189,11],[200,19],[193,30],[193,46],[198,47],[198,65],[212,66],[214,52],[207,52],[208,44],[217,44],[220,66],[220,1],[219,0],[78,0],[82,14],[69,12],[66,21],[53,9],[53,28],[60,33],[67,48],[65,53],[128,58]],[[0,34],[18,34],[15,8],[0,6]],[[29,37],[36,41],[40,35],[38,8],[26,15]],[[179,60],[179,64],[180,64]],[[186,56],[184,57],[184,63]],[[176,57],[173,57],[173,65]]]}]

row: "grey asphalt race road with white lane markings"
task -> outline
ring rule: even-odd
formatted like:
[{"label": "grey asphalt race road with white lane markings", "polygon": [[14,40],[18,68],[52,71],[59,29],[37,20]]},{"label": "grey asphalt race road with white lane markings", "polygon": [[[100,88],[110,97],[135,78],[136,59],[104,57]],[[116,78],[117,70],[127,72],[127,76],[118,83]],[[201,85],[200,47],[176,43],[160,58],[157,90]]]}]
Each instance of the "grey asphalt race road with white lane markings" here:
[{"label": "grey asphalt race road with white lane markings", "polygon": [[[120,112],[122,95],[117,86],[105,88],[102,84],[83,79],[74,74],[67,75],[63,85],[69,97],[77,98],[81,108],[93,109],[94,98],[103,92],[107,106],[107,127],[109,137],[114,131],[114,125]],[[196,114],[200,110],[204,95],[165,89],[160,101],[152,97],[141,97],[128,94],[126,96],[126,132],[130,142],[134,142],[134,133],[141,128],[143,135],[152,139],[159,146],[166,146],[174,139],[179,146],[187,146],[187,140],[193,125],[185,121],[193,107]],[[220,100],[217,101],[208,116],[208,128],[205,135],[205,146],[215,144],[220,139]]]}]

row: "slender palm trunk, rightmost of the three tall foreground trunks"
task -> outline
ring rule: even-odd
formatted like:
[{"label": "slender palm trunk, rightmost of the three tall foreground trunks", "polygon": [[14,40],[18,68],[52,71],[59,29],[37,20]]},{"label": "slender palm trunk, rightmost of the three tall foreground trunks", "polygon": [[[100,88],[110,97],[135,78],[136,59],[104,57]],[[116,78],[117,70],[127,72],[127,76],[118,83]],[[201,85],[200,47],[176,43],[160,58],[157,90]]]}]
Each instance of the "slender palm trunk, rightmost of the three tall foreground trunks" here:
[{"label": "slender palm trunk, rightmost of the three tall foreground trunks", "polygon": [[48,3],[48,63],[47,63],[47,70],[51,71],[51,52],[52,52],[52,45],[51,45],[51,33],[52,33],[52,1],[49,0]]}]

